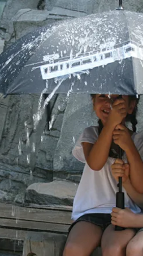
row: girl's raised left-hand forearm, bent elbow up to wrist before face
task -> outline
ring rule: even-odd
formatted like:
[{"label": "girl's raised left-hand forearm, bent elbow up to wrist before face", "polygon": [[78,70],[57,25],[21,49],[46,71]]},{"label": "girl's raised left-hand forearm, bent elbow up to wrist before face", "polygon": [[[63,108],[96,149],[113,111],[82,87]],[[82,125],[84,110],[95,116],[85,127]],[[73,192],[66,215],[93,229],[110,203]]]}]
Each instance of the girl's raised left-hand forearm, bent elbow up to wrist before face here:
[{"label": "girl's raised left-hand forearm, bent elbow up to wrist before face", "polygon": [[93,145],[88,156],[88,164],[92,170],[99,171],[105,165],[109,156],[112,142],[112,133],[115,127],[109,123],[103,127],[97,142]]}]

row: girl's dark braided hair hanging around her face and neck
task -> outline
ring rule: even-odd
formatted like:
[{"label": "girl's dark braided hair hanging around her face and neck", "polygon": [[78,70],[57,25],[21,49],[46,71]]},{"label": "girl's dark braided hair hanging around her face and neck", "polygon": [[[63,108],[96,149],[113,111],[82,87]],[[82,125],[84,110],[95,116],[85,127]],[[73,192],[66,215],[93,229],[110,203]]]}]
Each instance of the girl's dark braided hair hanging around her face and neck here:
[{"label": "girl's dark braided hair hanging around her face and neck", "polygon": [[[95,96],[96,96],[96,94],[91,94],[92,99],[94,99]],[[136,96],[129,96],[129,104],[131,103],[131,101],[135,101],[135,100],[136,100],[136,106],[133,109],[132,114],[127,114],[127,117],[125,118],[126,122],[131,122],[133,133],[136,132],[136,125],[137,125],[136,113],[137,113],[137,104],[140,100],[140,96],[138,96],[138,98]],[[98,134],[101,133],[102,129],[103,129],[103,124],[102,124],[101,119],[99,119],[98,120]],[[123,155],[123,150],[122,150],[122,155]],[[111,156],[112,158],[118,158],[118,155],[116,154],[116,152],[113,152],[111,148],[109,151],[109,156]]]}]

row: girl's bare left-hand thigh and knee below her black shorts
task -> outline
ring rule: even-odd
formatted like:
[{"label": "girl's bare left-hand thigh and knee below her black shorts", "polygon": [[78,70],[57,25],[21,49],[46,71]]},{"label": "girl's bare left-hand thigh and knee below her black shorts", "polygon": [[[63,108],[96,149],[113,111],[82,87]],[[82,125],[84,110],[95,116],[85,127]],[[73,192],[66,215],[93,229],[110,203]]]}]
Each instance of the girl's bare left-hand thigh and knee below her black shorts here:
[{"label": "girl's bare left-hand thigh and knee below her black shorts", "polygon": [[102,229],[90,222],[79,221],[73,226],[63,256],[90,256],[101,242]]}]

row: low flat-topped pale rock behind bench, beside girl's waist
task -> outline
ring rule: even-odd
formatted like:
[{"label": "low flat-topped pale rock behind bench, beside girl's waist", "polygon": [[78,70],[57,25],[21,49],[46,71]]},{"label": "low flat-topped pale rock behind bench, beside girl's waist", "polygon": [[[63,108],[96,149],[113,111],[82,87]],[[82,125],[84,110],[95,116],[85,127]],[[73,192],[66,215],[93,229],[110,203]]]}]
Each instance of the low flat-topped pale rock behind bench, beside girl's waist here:
[{"label": "low flat-topped pale rock behind bench, beside girl's waist", "polygon": [[25,192],[25,203],[72,206],[76,189],[76,183],[63,180],[54,180],[51,183],[34,183]]}]

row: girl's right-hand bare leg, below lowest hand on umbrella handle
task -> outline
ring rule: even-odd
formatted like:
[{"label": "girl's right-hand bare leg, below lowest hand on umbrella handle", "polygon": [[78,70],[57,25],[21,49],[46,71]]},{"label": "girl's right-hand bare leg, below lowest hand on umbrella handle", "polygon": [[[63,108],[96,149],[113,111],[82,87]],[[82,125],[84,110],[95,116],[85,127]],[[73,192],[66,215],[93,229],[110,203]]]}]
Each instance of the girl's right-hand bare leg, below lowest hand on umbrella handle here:
[{"label": "girl's right-hand bare leg, below lowest hand on umbrella handle", "polygon": [[108,226],[101,240],[102,255],[125,256],[126,246],[133,236],[135,236],[133,229],[115,231],[115,226]]}]

